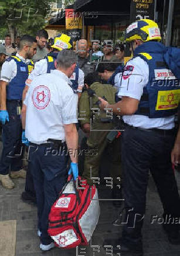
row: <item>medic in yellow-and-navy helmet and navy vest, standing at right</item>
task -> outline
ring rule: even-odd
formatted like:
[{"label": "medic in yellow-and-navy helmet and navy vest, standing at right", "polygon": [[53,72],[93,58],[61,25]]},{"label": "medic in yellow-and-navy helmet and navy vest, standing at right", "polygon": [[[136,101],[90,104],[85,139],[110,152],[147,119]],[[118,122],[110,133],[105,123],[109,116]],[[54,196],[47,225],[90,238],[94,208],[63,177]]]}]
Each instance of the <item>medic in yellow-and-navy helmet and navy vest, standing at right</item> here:
[{"label": "medic in yellow-and-navy helmet and navy vest, standing at right", "polygon": [[[123,188],[126,208],[122,237],[105,240],[113,252],[143,255],[142,224],[145,214],[148,173],[151,171],[164,208],[162,227],[171,244],[180,244],[180,198],[171,163],[175,140],[174,117],[179,103],[179,66],[175,65],[179,49],[166,48],[157,23],[140,19],[127,28],[133,59],[127,62],[119,78],[115,105],[100,99],[100,108],[108,107],[123,116],[125,131],[122,141]],[[172,53],[176,56],[172,58]],[[178,78],[179,79],[179,78]],[[176,86],[174,86],[176,84]],[[120,250],[117,248],[120,245]]]}]

